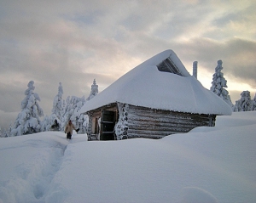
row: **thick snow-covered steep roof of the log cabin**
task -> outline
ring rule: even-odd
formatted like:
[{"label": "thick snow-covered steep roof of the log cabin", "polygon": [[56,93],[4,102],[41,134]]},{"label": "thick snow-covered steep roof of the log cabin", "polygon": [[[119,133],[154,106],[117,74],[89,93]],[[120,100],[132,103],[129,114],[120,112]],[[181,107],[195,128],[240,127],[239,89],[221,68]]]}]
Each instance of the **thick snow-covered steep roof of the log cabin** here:
[{"label": "thick snow-covered steep roof of the log cabin", "polygon": [[80,113],[115,102],[178,112],[232,114],[230,106],[191,76],[172,50],[155,55],[121,76],[87,101]]}]

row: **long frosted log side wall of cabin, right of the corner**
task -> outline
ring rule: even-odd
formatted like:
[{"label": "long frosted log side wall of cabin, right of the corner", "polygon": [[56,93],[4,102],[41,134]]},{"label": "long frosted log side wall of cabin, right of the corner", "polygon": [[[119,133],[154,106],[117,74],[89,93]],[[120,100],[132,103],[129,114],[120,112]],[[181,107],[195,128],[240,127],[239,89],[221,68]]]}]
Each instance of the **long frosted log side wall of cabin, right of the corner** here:
[{"label": "long frosted log side wall of cabin, right of the corner", "polygon": [[214,126],[216,116],[129,105],[127,117],[128,138],[163,138],[173,133],[187,133],[195,127]]}]

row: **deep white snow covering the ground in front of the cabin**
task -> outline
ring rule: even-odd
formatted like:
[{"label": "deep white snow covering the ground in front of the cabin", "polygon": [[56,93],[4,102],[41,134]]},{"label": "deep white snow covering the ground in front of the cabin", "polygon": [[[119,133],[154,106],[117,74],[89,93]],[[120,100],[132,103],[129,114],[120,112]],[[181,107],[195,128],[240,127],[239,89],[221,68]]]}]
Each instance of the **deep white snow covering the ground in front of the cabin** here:
[{"label": "deep white snow covering the ground in front of the cabin", "polygon": [[256,111],[160,140],[0,139],[0,202],[256,202]]}]

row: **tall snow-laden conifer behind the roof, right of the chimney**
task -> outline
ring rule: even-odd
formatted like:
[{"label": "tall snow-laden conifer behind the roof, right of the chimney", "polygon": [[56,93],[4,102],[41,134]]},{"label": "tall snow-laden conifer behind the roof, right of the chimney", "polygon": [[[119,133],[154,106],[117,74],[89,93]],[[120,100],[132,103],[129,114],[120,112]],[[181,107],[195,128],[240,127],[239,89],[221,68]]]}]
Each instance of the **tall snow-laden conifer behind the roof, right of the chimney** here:
[{"label": "tall snow-laden conifer behind the roof, right of the chimney", "polygon": [[218,65],[215,68],[215,73],[212,76],[212,87],[211,91],[216,93],[218,97],[224,99],[224,101],[233,107],[230,99],[229,92],[224,88],[227,87],[227,81],[224,78],[224,74],[221,72],[223,70],[222,60],[218,60]]}]

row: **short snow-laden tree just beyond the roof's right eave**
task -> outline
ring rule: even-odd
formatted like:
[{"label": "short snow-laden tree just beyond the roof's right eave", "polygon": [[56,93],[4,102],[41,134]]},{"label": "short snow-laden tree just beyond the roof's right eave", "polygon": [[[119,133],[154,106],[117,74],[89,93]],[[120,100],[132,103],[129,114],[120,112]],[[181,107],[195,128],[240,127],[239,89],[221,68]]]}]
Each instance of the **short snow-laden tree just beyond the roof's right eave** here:
[{"label": "short snow-laden tree just beyond the roof's right eave", "polygon": [[252,110],[252,100],[249,91],[243,91],[241,93],[241,99],[236,101],[233,108],[234,111],[250,111]]}]

